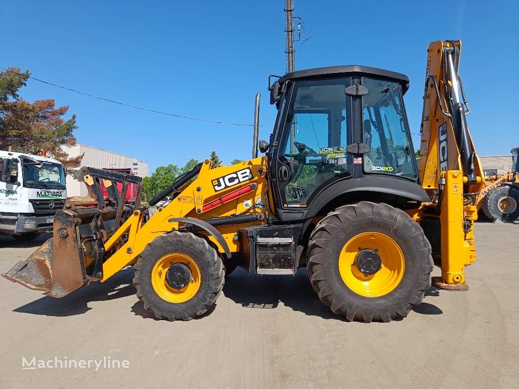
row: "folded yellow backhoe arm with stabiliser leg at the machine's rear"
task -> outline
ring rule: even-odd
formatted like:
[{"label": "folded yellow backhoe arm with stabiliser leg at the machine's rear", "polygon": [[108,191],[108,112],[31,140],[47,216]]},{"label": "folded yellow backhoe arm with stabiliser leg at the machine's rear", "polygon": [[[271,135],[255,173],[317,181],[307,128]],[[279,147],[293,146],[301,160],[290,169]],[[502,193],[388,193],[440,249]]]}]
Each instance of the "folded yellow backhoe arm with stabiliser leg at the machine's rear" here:
[{"label": "folded yellow backhoe arm with stabiliser leg at the machine's rear", "polygon": [[461,41],[435,41],[427,52],[419,173],[433,202],[422,207],[419,223],[426,231],[436,230],[428,238],[442,277],[433,284],[467,289],[463,267],[475,261],[473,223],[483,171],[467,126],[470,108],[458,75]]}]

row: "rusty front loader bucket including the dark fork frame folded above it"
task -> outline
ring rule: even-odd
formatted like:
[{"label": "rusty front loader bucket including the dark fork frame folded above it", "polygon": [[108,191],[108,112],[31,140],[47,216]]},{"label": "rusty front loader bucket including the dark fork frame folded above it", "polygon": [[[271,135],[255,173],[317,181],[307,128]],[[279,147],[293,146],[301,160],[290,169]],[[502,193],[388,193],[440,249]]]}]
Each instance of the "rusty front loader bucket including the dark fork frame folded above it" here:
[{"label": "rusty front loader bucket including the dark fork frame folded above it", "polygon": [[[139,206],[141,178],[93,168],[81,168],[77,177],[87,185],[89,197],[69,199],[54,216],[52,238],[2,274],[6,279],[63,297],[103,278],[104,242]],[[125,200],[129,185],[138,188],[131,204]]]}]

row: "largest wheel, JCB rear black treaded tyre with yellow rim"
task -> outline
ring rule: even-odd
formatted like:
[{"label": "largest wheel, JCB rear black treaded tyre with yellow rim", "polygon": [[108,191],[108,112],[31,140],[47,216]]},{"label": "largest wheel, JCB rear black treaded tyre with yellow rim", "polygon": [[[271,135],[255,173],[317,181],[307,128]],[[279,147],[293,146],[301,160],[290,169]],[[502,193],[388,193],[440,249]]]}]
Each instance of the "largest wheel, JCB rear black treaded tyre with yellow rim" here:
[{"label": "largest wheel, JCB rear black treaded tyre with yellow rim", "polygon": [[387,204],[339,207],[310,235],[308,275],[321,301],[348,320],[405,317],[431,285],[431,245]]}]

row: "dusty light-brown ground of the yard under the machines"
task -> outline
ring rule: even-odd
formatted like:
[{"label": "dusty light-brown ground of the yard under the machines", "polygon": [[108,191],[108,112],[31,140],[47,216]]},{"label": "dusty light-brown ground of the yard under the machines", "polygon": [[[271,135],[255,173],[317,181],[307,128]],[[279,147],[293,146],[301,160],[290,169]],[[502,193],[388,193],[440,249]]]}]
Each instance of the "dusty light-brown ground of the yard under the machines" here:
[{"label": "dusty light-brown ground of the yard under the machines", "polygon": [[[295,277],[239,269],[212,312],[174,323],[144,310],[132,269],[62,299],[2,278],[0,388],[519,387],[519,225],[481,223],[475,232],[470,290],[431,288],[407,318],[387,324],[333,314],[306,269]],[[44,240],[0,237],[0,272]],[[22,357],[129,367],[25,370]]]}]

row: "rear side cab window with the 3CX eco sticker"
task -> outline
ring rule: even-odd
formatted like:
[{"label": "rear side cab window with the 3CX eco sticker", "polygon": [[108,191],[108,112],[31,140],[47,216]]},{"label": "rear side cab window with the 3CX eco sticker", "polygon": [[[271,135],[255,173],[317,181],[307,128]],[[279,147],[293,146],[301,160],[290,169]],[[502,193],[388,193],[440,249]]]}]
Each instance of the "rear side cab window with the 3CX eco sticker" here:
[{"label": "rear side cab window with the 3CX eco sticker", "polygon": [[368,93],[362,97],[363,138],[370,151],[364,154],[366,173],[416,179],[411,138],[396,82],[363,78]]}]

